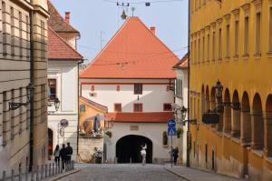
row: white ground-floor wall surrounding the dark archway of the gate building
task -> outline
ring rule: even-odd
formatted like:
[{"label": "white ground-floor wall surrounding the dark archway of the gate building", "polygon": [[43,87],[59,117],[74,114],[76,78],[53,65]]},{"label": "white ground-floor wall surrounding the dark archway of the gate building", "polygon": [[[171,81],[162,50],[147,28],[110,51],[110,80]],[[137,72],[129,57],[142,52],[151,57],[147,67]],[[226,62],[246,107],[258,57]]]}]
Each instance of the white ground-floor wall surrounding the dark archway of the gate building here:
[{"label": "white ground-floor wall surrounding the dark archway of the gate building", "polygon": [[[131,131],[131,126],[139,126],[139,130]],[[116,156],[116,143],[123,136],[145,136],[152,141],[152,158],[170,160],[169,146],[162,145],[162,133],[167,131],[167,123],[115,123],[112,129],[112,138],[107,144],[107,159],[114,160]]]}]

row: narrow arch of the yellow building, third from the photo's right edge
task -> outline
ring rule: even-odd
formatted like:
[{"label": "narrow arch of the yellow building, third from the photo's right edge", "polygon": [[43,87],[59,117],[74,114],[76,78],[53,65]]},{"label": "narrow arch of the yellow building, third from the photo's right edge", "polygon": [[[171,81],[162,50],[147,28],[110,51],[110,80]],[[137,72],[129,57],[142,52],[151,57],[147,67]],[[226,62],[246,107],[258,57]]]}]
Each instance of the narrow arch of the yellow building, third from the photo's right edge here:
[{"label": "narrow arch of the yellow building, third from the photo's right edge", "polygon": [[241,102],[241,142],[251,142],[251,117],[248,93],[244,92]]}]

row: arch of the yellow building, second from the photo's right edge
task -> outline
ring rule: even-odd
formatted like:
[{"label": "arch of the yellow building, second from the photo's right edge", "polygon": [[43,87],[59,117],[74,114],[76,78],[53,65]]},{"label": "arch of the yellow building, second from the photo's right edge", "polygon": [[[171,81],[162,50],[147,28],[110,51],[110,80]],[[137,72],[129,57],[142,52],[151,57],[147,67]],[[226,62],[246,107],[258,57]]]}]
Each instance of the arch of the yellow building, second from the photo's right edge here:
[{"label": "arch of the yellow building, second from the photo's right edge", "polygon": [[263,120],[262,102],[258,94],[253,98],[251,110],[251,129],[252,140],[251,146],[253,149],[262,150],[264,148],[264,120]]}]

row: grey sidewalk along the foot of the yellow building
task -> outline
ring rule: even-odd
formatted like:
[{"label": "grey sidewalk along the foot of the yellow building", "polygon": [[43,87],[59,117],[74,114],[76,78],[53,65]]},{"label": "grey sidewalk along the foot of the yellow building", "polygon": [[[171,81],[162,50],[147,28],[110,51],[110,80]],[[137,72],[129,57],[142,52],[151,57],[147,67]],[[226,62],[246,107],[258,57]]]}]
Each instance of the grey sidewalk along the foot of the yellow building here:
[{"label": "grey sidewalk along the foot of the yellow building", "polygon": [[234,178],[231,176],[223,176],[213,172],[199,170],[185,166],[164,166],[170,173],[182,177],[188,181],[247,181],[243,178]]}]

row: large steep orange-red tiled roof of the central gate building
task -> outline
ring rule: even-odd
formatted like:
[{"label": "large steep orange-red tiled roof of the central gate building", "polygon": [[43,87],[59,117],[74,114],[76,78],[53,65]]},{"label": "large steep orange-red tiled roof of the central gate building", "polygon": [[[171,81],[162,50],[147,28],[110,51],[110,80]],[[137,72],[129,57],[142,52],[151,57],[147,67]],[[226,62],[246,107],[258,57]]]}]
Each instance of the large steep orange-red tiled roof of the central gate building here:
[{"label": "large steep orange-red tiled roof of the central gate building", "polygon": [[81,78],[174,78],[179,61],[138,17],[130,17]]}]

